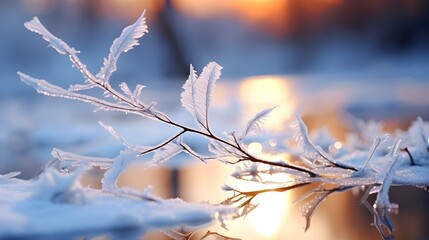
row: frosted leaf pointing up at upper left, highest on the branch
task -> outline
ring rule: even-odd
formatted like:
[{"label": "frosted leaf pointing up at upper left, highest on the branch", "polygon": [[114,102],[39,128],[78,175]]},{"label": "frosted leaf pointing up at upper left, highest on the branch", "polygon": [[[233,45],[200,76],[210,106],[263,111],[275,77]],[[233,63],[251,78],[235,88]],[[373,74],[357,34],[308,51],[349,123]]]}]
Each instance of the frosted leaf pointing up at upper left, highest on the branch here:
[{"label": "frosted leaf pointing up at upper left, highest on the branch", "polygon": [[96,77],[103,82],[108,82],[110,76],[116,71],[116,62],[123,52],[133,49],[134,46],[139,45],[138,39],[147,32],[147,25],[143,12],[137,21],[124,28],[121,35],[113,41],[110,47],[110,53],[107,59],[104,59],[103,67]]}]

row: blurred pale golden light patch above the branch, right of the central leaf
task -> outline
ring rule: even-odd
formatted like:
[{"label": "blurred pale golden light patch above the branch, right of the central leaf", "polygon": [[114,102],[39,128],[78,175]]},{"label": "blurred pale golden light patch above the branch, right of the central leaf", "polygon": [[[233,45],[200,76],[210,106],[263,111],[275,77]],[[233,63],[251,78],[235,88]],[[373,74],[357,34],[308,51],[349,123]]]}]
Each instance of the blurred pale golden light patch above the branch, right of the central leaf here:
[{"label": "blurred pale golden light patch above the branch, right of the central leaf", "polygon": [[256,113],[278,105],[266,119],[263,128],[270,131],[282,131],[285,122],[290,119],[295,104],[289,85],[290,80],[277,76],[259,76],[245,79],[239,86],[240,101],[243,102],[244,122]]}]

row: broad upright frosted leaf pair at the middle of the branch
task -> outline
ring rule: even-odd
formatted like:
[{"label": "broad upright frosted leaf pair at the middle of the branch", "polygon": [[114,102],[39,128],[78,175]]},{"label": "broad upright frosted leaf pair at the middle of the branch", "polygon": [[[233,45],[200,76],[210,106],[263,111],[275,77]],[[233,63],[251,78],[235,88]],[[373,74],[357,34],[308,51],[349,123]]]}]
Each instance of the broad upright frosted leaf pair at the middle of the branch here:
[{"label": "broad upright frosted leaf pair at the middle of the branch", "polygon": [[182,106],[188,110],[197,123],[203,128],[208,126],[208,111],[210,101],[214,91],[216,80],[221,75],[222,67],[215,62],[210,62],[204,67],[200,77],[197,77],[193,66],[188,80],[183,85],[184,91],[181,94]]}]

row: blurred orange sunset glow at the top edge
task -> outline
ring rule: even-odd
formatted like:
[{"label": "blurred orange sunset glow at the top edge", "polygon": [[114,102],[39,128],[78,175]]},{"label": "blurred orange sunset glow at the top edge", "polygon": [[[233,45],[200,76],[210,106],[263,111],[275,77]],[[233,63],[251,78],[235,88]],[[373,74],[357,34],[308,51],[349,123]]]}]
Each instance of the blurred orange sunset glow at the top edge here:
[{"label": "blurred orange sunset glow at the top edge", "polygon": [[[172,6],[191,17],[238,18],[269,34],[291,34],[307,18],[323,19],[344,0],[172,0]],[[308,21],[308,20],[306,20]],[[317,20],[315,20],[317,21]],[[307,23],[308,24],[308,23]]]}]

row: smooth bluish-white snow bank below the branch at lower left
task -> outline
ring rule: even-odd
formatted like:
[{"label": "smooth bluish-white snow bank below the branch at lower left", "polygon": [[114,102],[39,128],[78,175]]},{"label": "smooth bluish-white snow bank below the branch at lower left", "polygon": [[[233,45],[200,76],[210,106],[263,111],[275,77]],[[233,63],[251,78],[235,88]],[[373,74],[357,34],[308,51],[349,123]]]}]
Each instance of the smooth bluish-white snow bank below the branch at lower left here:
[{"label": "smooth bluish-white snow bank below the branch at lower left", "polygon": [[218,214],[232,212],[179,199],[148,201],[82,187],[82,173],[83,169],[65,174],[48,168],[33,180],[0,179],[0,238],[201,227]]}]

